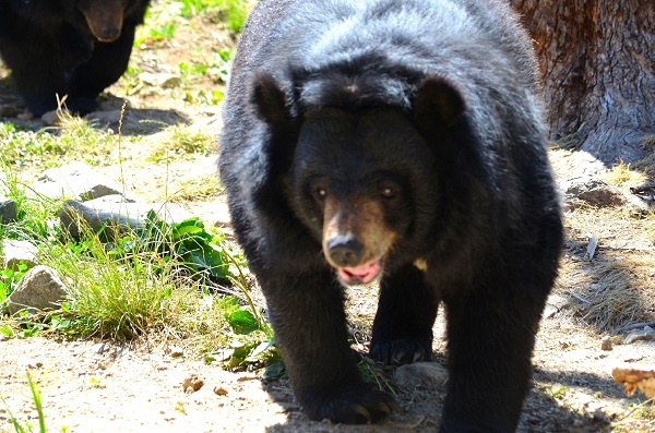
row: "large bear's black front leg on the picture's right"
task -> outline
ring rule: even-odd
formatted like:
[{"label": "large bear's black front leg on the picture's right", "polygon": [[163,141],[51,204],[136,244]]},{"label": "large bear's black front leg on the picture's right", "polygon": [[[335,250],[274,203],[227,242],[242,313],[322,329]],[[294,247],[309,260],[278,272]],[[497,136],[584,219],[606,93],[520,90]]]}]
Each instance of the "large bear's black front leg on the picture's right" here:
[{"label": "large bear's black front leg on the picture's right", "polygon": [[547,290],[509,287],[489,281],[444,298],[449,382],[441,433],[516,429]]}]

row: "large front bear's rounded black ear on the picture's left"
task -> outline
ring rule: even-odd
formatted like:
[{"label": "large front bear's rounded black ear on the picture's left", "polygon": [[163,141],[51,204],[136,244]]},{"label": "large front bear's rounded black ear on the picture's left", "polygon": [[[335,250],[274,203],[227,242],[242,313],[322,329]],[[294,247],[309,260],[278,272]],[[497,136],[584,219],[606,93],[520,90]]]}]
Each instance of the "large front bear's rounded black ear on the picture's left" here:
[{"label": "large front bear's rounded black ear on the picture's left", "polygon": [[258,115],[269,124],[287,122],[290,118],[286,95],[269,73],[255,73],[250,100],[257,107]]}]

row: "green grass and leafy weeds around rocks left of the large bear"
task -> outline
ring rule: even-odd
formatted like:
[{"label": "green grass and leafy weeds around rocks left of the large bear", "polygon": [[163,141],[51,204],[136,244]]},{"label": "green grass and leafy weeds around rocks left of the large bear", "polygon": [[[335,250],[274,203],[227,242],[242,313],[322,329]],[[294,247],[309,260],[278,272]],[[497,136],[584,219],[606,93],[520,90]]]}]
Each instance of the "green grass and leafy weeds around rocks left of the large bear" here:
[{"label": "green grass and leafy weeds around rocks left of the large bear", "polygon": [[[272,332],[250,298],[243,257],[218,229],[198,218],[167,224],[153,213],[140,229],[112,233],[106,227],[110,243],[91,229],[72,239],[53,219],[61,203],[28,197],[16,178],[8,179],[4,190],[19,204],[19,218],[0,226],[0,237],[31,240],[37,262],[57,272],[70,297],[57,312],[0,312],[2,335],[174,337],[199,356],[237,341],[228,368],[259,362],[250,353]],[[0,269],[0,308],[25,270]]]}]

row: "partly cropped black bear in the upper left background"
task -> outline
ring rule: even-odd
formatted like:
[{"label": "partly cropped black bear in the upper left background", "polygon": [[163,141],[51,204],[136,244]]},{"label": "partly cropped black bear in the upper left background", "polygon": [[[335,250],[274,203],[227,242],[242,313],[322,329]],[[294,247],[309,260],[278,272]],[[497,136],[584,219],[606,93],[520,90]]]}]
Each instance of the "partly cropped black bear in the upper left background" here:
[{"label": "partly cropped black bear in the upper left background", "polygon": [[97,107],[96,98],[128,68],[134,31],[150,0],[3,0],[0,57],[36,116],[58,107]]}]

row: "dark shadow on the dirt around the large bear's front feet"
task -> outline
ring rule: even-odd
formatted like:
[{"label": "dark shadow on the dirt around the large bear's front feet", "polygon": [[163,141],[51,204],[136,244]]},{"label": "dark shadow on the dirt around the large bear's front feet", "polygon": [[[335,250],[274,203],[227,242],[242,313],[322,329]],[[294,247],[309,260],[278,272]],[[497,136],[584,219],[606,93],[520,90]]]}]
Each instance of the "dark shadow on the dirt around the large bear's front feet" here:
[{"label": "dark shadow on the dirt around the large bear's front feet", "polygon": [[[393,383],[391,376],[386,377]],[[611,432],[611,416],[593,406],[588,411],[572,408],[563,400],[563,394],[570,389],[583,388],[585,395],[598,398],[622,399],[622,388],[610,378],[595,374],[572,371],[544,371],[534,373],[534,384],[529,390],[521,417],[519,433],[604,433]],[[296,432],[437,432],[441,419],[441,410],[445,388],[436,386],[425,388],[396,388],[396,400],[403,413],[395,414],[381,424],[345,425],[329,422],[311,422],[305,417],[296,404],[288,381],[276,381],[264,385],[273,400],[279,405],[288,417],[286,423],[272,425],[266,429],[270,433]]]}]

